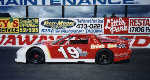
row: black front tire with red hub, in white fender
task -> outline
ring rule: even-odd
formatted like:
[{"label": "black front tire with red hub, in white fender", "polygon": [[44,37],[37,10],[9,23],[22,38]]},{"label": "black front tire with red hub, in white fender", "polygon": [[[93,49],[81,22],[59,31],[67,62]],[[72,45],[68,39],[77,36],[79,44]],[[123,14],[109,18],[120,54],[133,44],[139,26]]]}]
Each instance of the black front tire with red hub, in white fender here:
[{"label": "black front tire with red hub, in white fender", "polygon": [[29,64],[43,64],[45,63],[45,55],[40,48],[31,48],[26,54],[26,63]]}]

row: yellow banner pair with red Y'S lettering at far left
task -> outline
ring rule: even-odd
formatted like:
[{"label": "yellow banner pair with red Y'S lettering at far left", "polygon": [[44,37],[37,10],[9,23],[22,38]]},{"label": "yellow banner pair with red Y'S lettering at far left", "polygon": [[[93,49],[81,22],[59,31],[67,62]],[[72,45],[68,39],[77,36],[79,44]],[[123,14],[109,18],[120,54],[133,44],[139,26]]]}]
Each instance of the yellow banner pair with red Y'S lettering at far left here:
[{"label": "yellow banner pair with red Y'S lettering at far left", "polygon": [[39,33],[38,18],[0,18],[1,34]]}]

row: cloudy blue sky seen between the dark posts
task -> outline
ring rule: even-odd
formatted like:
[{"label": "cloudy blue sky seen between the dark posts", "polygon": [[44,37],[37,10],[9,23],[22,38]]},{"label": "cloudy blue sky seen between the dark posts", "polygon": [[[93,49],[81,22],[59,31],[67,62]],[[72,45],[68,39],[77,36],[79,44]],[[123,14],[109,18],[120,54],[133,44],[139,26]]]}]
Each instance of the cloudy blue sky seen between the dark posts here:
[{"label": "cloudy blue sky seen between the dark posts", "polygon": [[[149,1],[150,2],[150,1]],[[150,5],[128,6],[128,17],[150,17]],[[30,6],[29,17],[34,18],[61,18],[61,6]],[[97,7],[97,17],[107,17],[115,13],[118,17],[124,17],[125,6],[106,5]],[[12,17],[25,17],[25,6],[1,6],[0,13],[10,13]],[[94,6],[65,6],[67,18],[90,18],[94,15]]]}]

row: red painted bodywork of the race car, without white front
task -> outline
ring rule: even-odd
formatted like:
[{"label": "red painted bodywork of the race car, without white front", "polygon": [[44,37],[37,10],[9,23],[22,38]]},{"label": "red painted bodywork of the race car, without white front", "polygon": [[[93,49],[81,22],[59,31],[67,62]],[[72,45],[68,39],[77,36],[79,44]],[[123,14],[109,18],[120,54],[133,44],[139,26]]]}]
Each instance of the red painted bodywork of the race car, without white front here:
[{"label": "red painted bodywork of the race car, without white front", "polygon": [[[107,48],[113,52],[114,61],[120,61],[130,58],[132,51],[129,49],[128,42],[118,37],[71,34],[46,45],[52,59],[95,59],[99,50]],[[126,47],[119,48],[119,44],[125,44]]]}]

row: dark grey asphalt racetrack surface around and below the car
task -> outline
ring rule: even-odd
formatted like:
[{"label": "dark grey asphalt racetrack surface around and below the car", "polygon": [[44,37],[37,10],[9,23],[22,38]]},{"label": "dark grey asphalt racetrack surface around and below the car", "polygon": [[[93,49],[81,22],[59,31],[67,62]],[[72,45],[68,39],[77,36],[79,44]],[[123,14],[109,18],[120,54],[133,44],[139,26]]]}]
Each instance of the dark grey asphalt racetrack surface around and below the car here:
[{"label": "dark grey asphalt racetrack surface around and below the car", "polygon": [[130,63],[16,64],[19,48],[0,48],[0,80],[150,80],[150,49],[133,49]]}]

